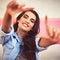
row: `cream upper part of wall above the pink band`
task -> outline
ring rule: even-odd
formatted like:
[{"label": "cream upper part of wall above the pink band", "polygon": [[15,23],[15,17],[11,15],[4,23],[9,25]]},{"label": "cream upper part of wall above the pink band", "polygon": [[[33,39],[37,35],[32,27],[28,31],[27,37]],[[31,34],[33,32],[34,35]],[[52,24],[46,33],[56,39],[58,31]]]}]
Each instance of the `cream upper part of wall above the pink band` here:
[{"label": "cream upper part of wall above the pink band", "polygon": [[[0,0],[0,17],[4,16],[6,5],[11,0]],[[16,0],[19,4],[26,4],[26,7],[34,7],[40,18],[48,15],[49,18],[60,18],[60,0]]]}]

